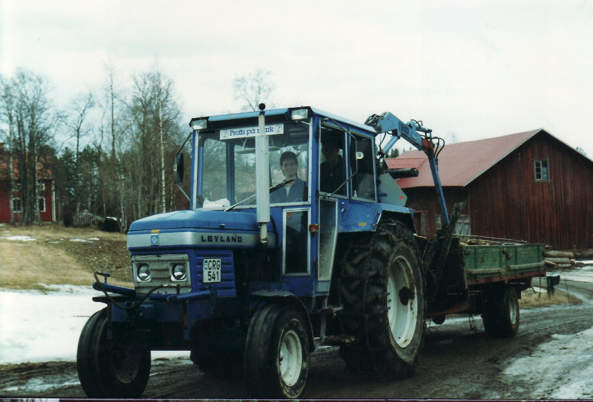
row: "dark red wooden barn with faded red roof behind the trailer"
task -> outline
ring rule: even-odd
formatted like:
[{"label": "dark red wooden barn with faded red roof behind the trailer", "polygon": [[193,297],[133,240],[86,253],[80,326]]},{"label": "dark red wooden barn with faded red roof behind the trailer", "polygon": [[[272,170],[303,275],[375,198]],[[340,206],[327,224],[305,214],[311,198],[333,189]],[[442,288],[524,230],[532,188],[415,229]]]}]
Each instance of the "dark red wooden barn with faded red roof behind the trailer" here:
[{"label": "dark red wooden barn with faded red roof behind the trailer", "polygon": [[[440,228],[431,169],[422,151],[386,160],[417,168],[398,181],[416,211],[419,234]],[[593,248],[593,161],[543,129],[459,142],[438,155],[447,209],[468,204],[458,234],[543,242],[558,250]]]}]

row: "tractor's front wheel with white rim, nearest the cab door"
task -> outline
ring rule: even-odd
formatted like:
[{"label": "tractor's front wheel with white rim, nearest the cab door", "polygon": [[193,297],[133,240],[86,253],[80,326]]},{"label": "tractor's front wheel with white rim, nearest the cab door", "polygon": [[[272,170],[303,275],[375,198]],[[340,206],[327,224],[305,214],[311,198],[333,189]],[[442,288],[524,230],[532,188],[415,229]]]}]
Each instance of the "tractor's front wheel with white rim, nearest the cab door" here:
[{"label": "tractor's front wheel with white rim, nearest the cab door", "polygon": [[245,385],[254,397],[298,399],[309,372],[303,317],[290,306],[270,304],[254,314],[245,345]]}]

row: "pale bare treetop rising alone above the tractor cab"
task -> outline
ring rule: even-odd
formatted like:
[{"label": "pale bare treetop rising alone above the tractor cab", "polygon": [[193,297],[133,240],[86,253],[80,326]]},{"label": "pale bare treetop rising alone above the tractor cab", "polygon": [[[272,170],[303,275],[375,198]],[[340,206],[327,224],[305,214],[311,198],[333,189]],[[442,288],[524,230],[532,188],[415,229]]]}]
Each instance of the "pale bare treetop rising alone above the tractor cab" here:
[{"label": "pale bare treetop rising alone above the tractor cab", "polygon": [[261,103],[265,103],[268,108],[274,106],[272,93],[274,93],[276,85],[271,76],[270,71],[257,68],[253,73],[236,77],[233,80],[235,100],[244,103],[243,111],[257,111]]}]

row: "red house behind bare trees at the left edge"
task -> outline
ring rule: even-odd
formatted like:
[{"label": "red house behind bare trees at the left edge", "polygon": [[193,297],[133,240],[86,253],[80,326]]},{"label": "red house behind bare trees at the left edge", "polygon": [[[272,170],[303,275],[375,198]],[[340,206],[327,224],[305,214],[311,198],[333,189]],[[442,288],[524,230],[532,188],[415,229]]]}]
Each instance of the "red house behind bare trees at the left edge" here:
[{"label": "red house behind bare trees at the left edge", "polygon": [[[4,150],[4,144],[0,143],[0,223],[10,222],[10,204],[12,203],[12,212],[14,221],[19,222],[21,211],[21,191],[19,187],[18,162],[15,157],[12,158],[12,178],[15,180],[15,188],[10,189],[10,177],[8,175],[8,164],[10,157]],[[39,216],[41,222],[55,222],[55,191],[53,174],[50,169],[46,169],[41,163],[37,166],[39,186]]]}]

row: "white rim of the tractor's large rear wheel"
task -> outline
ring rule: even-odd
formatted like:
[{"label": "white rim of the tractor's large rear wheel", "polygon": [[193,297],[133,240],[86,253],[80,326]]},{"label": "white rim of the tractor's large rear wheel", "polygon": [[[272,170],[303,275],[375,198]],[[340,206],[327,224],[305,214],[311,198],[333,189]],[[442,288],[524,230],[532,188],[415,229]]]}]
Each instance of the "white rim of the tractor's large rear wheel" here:
[{"label": "white rim of the tractor's large rear wheel", "polygon": [[410,262],[403,256],[398,256],[389,269],[387,292],[391,335],[399,347],[406,347],[416,331],[418,298]]}]

